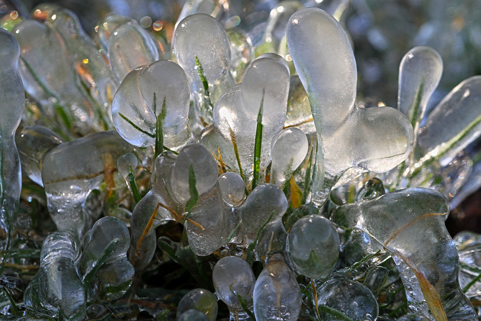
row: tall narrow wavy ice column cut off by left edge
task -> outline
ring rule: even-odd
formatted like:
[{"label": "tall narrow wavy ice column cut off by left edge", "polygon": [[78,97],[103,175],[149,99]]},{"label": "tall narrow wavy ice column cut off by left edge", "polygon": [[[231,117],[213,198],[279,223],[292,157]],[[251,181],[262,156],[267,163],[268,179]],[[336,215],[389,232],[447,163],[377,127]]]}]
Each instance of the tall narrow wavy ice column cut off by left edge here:
[{"label": "tall narrow wavy ice column cut off by left edge", "polygon": [[25,108],[25,93],[18,72],[18,42],[10,32],[0,29],[0,43],[0,248],[3,251],[15,231],[22,189],[15,130]]}]

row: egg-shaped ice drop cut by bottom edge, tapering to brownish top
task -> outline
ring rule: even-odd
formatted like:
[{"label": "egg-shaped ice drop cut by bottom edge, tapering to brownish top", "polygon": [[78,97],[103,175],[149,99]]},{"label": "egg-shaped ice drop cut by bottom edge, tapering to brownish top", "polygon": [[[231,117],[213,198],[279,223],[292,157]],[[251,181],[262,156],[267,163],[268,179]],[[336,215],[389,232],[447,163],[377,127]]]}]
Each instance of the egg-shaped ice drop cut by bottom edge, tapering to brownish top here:
[{"label": "egg-shaped ice drop cut by bottom edge, tapering to brownish top", "polygon": [[294,272],[272,257],[254,286],[254,314],[259,321],[296,321],[301,311],[301,290]]}]

